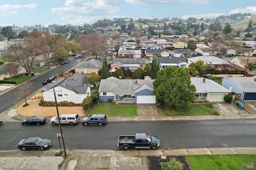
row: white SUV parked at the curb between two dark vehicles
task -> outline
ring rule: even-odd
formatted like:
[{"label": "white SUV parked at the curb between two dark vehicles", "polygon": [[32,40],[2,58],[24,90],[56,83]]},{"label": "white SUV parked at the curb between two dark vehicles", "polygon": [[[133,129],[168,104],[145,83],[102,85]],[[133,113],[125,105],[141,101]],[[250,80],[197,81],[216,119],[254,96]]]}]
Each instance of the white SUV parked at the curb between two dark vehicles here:
[{"label": "white SUV parked at the curb between two dark vehicles", "polygon": [[[69,124],[69,125],[74,125],[74,123],[79,122],[79,116],[77,114],[62,114],[60,115],[60,123],[61,124]],[[56,125],[59,123],[58,117],[54,116],[50,119],[50,123],[52,125]]]}]

